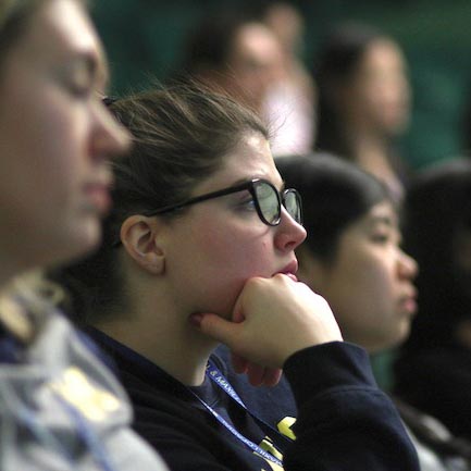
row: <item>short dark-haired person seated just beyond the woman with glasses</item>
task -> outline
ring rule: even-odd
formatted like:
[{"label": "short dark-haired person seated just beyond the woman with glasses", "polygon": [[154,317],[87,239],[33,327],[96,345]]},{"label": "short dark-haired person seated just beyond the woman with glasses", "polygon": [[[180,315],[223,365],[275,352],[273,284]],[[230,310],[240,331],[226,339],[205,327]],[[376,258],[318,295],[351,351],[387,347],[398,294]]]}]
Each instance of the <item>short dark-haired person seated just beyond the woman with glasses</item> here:
[{"label": "short dark-haired person seated just beyond the woman with glasses", "polygon": [[[299,278],[327,300],[346,340],[370,354],[399,345],[417,309],[418,267],[400,249],[398,213],[387,188],[332,156],[278,159],[277,166],[303,196],[308,237],[297,249]],[[397,406],[422,471],[471,469],[470,443],[409,405]]]}]

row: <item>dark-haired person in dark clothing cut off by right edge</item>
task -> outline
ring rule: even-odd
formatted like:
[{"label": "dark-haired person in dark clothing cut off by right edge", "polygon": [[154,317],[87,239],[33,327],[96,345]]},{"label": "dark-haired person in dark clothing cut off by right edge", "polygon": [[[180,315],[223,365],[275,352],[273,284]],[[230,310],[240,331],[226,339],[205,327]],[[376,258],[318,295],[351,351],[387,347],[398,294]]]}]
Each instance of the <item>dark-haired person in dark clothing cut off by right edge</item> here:
[{"label": "dark-haired person in dark clothing cut off by right edge", "polygon": [[419,313],[396,363],[396,393],[471,438],[471,161],[431,168],[405,204],[420,265]]}]

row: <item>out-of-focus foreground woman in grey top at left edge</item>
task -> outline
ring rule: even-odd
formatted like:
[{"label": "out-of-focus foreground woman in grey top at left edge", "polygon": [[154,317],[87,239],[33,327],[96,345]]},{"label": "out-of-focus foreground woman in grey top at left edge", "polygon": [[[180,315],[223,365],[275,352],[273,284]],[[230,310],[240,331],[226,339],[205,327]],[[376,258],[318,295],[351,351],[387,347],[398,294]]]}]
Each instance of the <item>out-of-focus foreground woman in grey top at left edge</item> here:
[{"label": "out-of-focus foreground woman in grey top at left edge", "polygon": [[0,2],[2,471],[166,469],[40,273],[100,239],[107,160],[128,144],[98,97],[106,75],[82,1]]}]

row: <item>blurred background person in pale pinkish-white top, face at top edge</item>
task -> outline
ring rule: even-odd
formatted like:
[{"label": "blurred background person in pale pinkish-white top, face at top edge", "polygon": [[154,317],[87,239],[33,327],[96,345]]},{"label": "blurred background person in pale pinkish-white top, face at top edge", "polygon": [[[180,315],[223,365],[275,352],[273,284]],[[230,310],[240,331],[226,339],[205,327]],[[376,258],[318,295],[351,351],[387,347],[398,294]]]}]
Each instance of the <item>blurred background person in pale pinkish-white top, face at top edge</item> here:
[{"label": "blurred background person in pale pinkish-white top, face at top edge", "polygon": [[315,132],[315,85],[302,62],[305,18],[293,4],[268,2],[261,15],[282,50],[282,73],[267,92],[263,115],[276,132],[271,147],[274,157],[307,153]]}]

